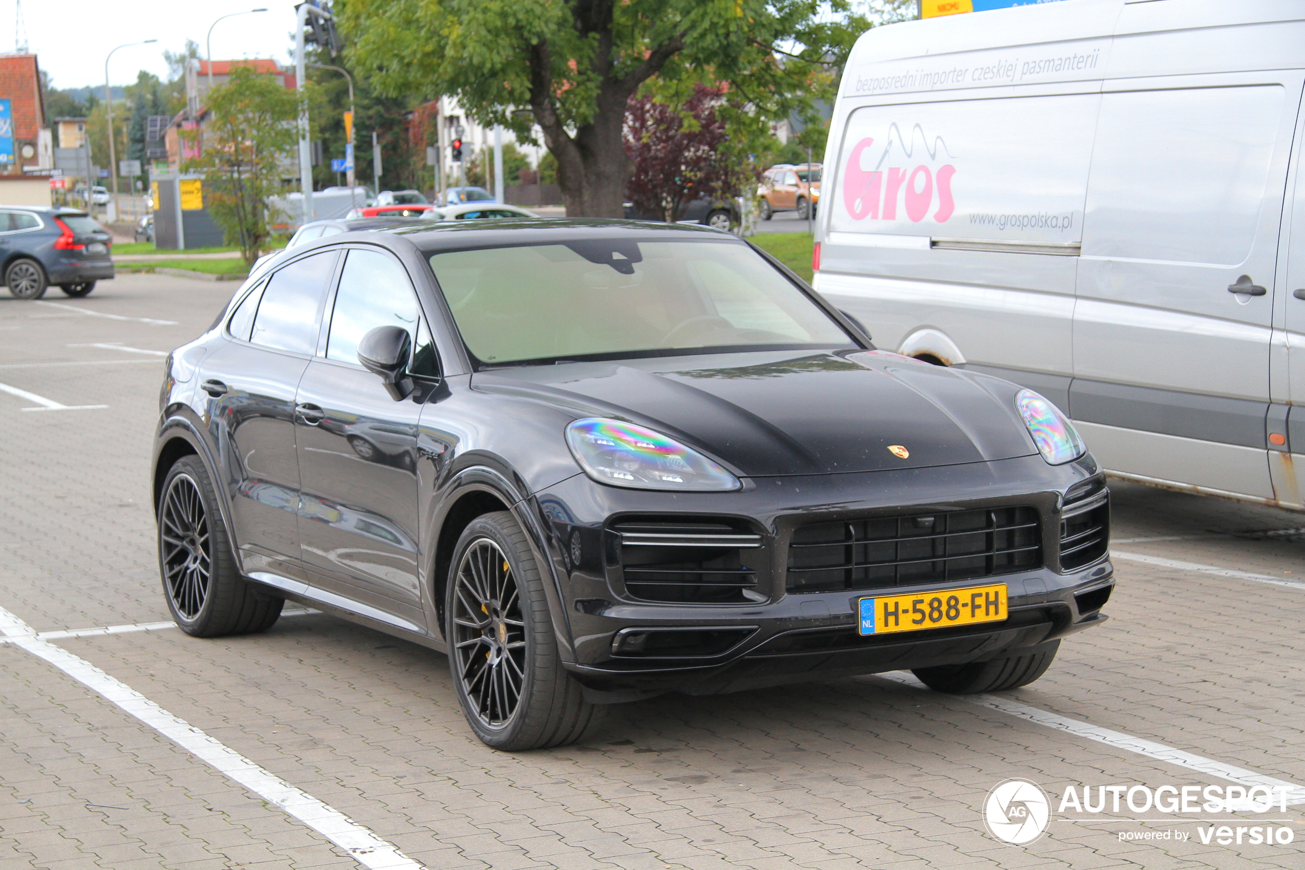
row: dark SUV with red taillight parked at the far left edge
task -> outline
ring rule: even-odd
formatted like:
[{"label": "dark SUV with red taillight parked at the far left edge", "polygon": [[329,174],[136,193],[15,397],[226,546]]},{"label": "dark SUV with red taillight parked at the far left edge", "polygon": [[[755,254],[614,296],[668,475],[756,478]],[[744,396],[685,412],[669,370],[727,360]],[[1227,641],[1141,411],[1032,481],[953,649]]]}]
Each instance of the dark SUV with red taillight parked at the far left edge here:
[{"label": "dark SUV with red taillight parked at the far left edge", "polygon": [[40,299],[50,284],[85,296],[114,277],[112,236],[77,209],[0,206],[0,274],[18,299]]}]

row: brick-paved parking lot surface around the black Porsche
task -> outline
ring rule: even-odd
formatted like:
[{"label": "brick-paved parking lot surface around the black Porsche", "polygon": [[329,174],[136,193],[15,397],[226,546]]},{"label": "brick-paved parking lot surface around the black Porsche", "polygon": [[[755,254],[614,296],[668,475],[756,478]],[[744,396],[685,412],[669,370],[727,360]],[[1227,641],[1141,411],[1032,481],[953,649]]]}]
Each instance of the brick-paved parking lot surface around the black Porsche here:
[{"label": "brick-paved parking lot surface around the black Porsche", "polygon": [[[162,360],[235,288],[123,275],[0,297],[0,866],[1305,866],[1305,515],[1275,509],[1114,481],[1111,621],[1022,690],[894,673],[664,695],[518,755],[471,734],[423,647],[288,607],[262,635],[168,627]],[[1051,798],[1028,845],[984,824],[1011,777]],[[1109,785],[1275,802],[1062,806]]]}]

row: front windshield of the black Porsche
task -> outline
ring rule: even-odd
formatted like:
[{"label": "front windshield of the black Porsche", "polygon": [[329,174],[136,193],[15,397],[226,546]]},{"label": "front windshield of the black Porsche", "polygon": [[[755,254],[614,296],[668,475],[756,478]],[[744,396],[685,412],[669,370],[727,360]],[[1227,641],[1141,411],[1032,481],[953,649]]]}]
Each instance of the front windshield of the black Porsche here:
[{"label": "front windshield of the black Porsche", "polygon": [[739,243],[586,239],[431,256],[482,364],[855,347]]}]

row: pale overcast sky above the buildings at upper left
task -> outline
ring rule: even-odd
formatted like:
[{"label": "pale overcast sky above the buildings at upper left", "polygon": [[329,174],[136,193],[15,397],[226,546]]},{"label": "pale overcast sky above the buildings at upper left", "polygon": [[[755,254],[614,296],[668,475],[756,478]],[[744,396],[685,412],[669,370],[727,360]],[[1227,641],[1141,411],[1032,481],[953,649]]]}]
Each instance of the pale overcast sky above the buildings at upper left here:
[{"label": "pale overcast sky above the buildings at upper left", "polygon": [[[16,7],[16,0],[0,0],[0,53],[14,50]],[[166,80],[164,50],[180,52],[193,39],[202,56],[209,26],[219,16],[260,7],[268,12],[227,18],[213,29],[213,57],[271,57],[286,64],[295,29],[292,0],[23,0],[22,17],[27,48],[39,56],[55,87],[103,87],[104,57],[115,46],[158,39],[114,55],[108,68],[114,85],[130,85],[141,69]]]}]

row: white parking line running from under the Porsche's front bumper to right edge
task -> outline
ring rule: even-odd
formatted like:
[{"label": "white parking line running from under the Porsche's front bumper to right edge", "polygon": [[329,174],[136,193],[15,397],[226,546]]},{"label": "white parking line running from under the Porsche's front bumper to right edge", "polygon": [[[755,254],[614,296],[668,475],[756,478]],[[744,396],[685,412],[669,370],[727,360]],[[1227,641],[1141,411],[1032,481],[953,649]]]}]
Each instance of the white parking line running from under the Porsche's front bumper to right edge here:
[{"label": "white parking line running from under the Porsche's front bumper to right edge", "polygon": [[[927,686],[912,676],[906,673],[880,673],[874,674],[881,680],[890,680],[893,682],[902,683],[903,686],[912,686],[916,689],[927,689]],[[1265,773],[1257,773],[1255,771],[1249,771],[1245,767],[1236,767],[1233,764],[1225,764],[1223,762],[1216,762],[1212,758],[1205,758],[1203,755],[1195,755],[1193,753],[1174,749],[1173,746],[1165,746],[1164,743],[1158,743],[1151,740],[1143,740],[1142,737],[1133,737],[1131,734],[1125,734],[1124,732],[1111,730],[1109,728],[1099,728],[1098,725],[1088,725],[1087,723],[1081,723],[1075,719],[1069,719],[1066,716],[1057,716],[1056,713],[1049,713],[1045,710],[1039,710],[1036,707],[1030,707],[1028,704],[1022,704],[1017,700],[1009,700],[1006,698],[998,698],[997,695],[951,695],[957,700],[964,700],[971,704],[979,704],[980,707],[988,707],[989,710],[996,710],[1010,716],[1017,716],[1026,721],[1036,723],[1039,725],[1045,725],[1047,728],[1054,728],[1056,730],[1064,730],[1070,734],[1077,734],[1078,737],[1086,737],[1087,740],[1095,740],[1099,743],[1105,743],[1113,746],[1114,749],[1122,749],[1129,753],[1137,753],[1138,755],[1146,755],[1147,758],[1154,758],[1160,762],[1168,762],[1171,764],[1177,764],[1178,767],[1186,767],[1188,770],[1198,771],[1206,773],[1207,776],[1218,776],[1223,780],[1229,780],[1237,783],[1238,785],[1245,785],[1250,788],[1251,785],[1263,785],[1270,789],[1287,789],[1287,802],[1288,803],[1305,803],[1305,785],[1297,785],[1296,783],[1288,783],[1287,780],[1275,779],[1272,776],[1266,776]]]}]

